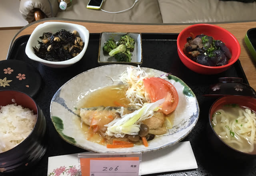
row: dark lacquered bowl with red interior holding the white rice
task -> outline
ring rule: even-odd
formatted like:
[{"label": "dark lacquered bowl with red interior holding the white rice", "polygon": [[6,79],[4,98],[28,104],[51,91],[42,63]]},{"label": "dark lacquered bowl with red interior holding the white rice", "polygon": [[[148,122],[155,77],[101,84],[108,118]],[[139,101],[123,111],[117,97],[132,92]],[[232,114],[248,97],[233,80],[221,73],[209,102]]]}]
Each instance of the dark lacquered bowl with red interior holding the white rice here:
[{"label": "dark lacquered bowl with red interior holding the white rice", "polygon": [[3,90],[0,91],[0,97],[0,106],[16,102],[17,105],[33,110],[37,117],[34,128],[20,144],[0,153],[0,172],[20,174],[34,166],[46,152],[46,119],[36,102],[25,93]]}]

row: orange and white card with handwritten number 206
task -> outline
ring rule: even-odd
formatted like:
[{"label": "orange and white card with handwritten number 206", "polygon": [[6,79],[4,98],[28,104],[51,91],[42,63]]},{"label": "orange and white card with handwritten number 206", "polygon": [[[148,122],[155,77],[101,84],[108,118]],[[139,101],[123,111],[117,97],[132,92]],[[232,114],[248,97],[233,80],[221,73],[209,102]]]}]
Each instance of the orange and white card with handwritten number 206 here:
[{"label": "orange and white card with handwritten number 206", "polygon": [[138,176],[141,153],[82,153],[83,176]]}]

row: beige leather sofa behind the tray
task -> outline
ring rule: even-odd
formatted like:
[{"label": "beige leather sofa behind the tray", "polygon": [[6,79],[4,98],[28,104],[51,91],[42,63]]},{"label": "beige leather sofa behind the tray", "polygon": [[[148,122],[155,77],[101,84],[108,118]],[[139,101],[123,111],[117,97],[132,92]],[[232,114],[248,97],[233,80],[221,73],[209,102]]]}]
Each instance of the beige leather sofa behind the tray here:
[{"label": "beige leather sofa behind the tray", "polygon": [[[226,0],[139,0],[122,13],[107,13],[87,9],[89,0],[73,0],[66,10],[60,10],[57,0],[20,0],[20,13],[28,22],[41,10],[47,17],[94,22],[125,22],[147,24],[244,22],[256,20],[256,2]],[[253,1],[253,0],[252,0]],[[130,8],[135,0],[105,0],[102,9],[117,12]]]}]

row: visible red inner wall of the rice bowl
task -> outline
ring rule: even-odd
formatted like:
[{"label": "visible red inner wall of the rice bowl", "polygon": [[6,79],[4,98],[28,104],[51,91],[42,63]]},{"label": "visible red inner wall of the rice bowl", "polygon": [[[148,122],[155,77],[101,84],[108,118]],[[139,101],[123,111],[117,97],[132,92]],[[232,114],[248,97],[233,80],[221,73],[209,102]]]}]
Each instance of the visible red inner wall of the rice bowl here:
[{"label": "visible red inner wall of the rice bowl", "polygon": [[[37,107],[34,100],[20,91],[4,90],[0,91],[0,105],[6,106],[13,103],[22,105],[22,107],[33,110],[34,114],[37,114]],[[15,102],[14,102],[15,101]]]}]

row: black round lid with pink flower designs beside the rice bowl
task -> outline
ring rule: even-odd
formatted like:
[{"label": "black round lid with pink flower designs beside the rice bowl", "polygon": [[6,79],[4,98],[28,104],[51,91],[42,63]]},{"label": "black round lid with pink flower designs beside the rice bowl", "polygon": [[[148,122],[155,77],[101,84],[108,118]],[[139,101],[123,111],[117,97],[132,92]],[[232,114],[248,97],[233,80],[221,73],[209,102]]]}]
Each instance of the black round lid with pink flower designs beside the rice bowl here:
[{"label": "black round lid with pink flower designs beside the rice bowl", "polygon": [[42,77],[37,69],[20,60],[0,61],[0,90],[17,90],[34,97]]}]

